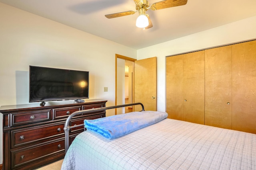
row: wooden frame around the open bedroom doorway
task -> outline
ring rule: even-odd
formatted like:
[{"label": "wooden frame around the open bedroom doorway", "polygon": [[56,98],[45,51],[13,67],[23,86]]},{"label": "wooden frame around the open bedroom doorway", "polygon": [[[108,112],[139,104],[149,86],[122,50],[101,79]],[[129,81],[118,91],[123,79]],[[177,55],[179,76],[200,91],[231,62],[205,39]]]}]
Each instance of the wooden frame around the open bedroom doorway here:
[{"label": "wooden frame around the open bedroom doorway", "polygon": [[[115,63],[115,66],[116,66],[116,75],[115,75],[115,106],[117,105],[117,59],[123,59],[123,60],[127,60],[127,61],[132,61],[134,63],[134,61],[136,61],[137,59],[133,59],[133,58],[130,58],[130,57],[126,57],[126,56],[123,56],[123,55],[119,55],[119,54],[116,54],[116,63]],[[132,68],[132,72],[133,72],[133,75],[134,75],[134,66]],[[132,103],[134,103],[134,76],[132,76]],[[132,107],[134,109],[134,107]],[[117,109],[115,109],[115,115],[117,114]]]}]

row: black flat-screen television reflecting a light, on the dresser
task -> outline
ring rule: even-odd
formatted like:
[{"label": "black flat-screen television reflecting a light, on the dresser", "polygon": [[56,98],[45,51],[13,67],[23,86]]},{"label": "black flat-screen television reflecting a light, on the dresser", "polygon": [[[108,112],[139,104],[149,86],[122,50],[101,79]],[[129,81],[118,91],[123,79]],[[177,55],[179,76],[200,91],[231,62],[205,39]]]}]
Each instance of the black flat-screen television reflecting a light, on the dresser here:
[{"label": "black flat-screen television reflecting a light, on the dresser", "polygon": [[89,72],[29,66],[29,102],[89,98]]}]

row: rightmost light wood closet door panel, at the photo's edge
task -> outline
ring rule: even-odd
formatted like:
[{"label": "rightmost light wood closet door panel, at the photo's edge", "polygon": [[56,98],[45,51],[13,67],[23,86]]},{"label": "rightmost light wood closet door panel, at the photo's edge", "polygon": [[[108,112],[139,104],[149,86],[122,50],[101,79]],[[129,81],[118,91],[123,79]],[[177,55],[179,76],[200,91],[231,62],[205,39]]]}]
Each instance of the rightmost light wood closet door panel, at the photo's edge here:
[{"label": "rightmost light wood closet door panel, at the photo's edge", "polygon": [[256,41],[232,45],[232,129],[256,133]]}]

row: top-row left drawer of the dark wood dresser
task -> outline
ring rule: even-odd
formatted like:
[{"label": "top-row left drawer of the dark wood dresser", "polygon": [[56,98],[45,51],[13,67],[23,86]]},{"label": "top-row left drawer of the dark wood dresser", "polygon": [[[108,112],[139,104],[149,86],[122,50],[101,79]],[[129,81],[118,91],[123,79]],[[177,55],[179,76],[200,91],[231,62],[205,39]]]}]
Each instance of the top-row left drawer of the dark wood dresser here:
[{"label": "top-row left drawer of the dark wood dresser", "polygon": [[10,113],[11,126],[26,125],[50,120],[51,109]]}]

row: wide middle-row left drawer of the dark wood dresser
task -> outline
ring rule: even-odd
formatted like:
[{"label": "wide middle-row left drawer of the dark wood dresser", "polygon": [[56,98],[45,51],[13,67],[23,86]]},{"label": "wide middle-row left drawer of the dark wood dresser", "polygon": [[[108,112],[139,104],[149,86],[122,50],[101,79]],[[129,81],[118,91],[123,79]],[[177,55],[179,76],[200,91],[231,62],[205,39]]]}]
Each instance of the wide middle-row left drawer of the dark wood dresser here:
[{"label": "wide middle-row left drawer of the dark wood dresser", "polygon": [[11,131],[12,148],[64,134],[64,123],[29,127]]}]

